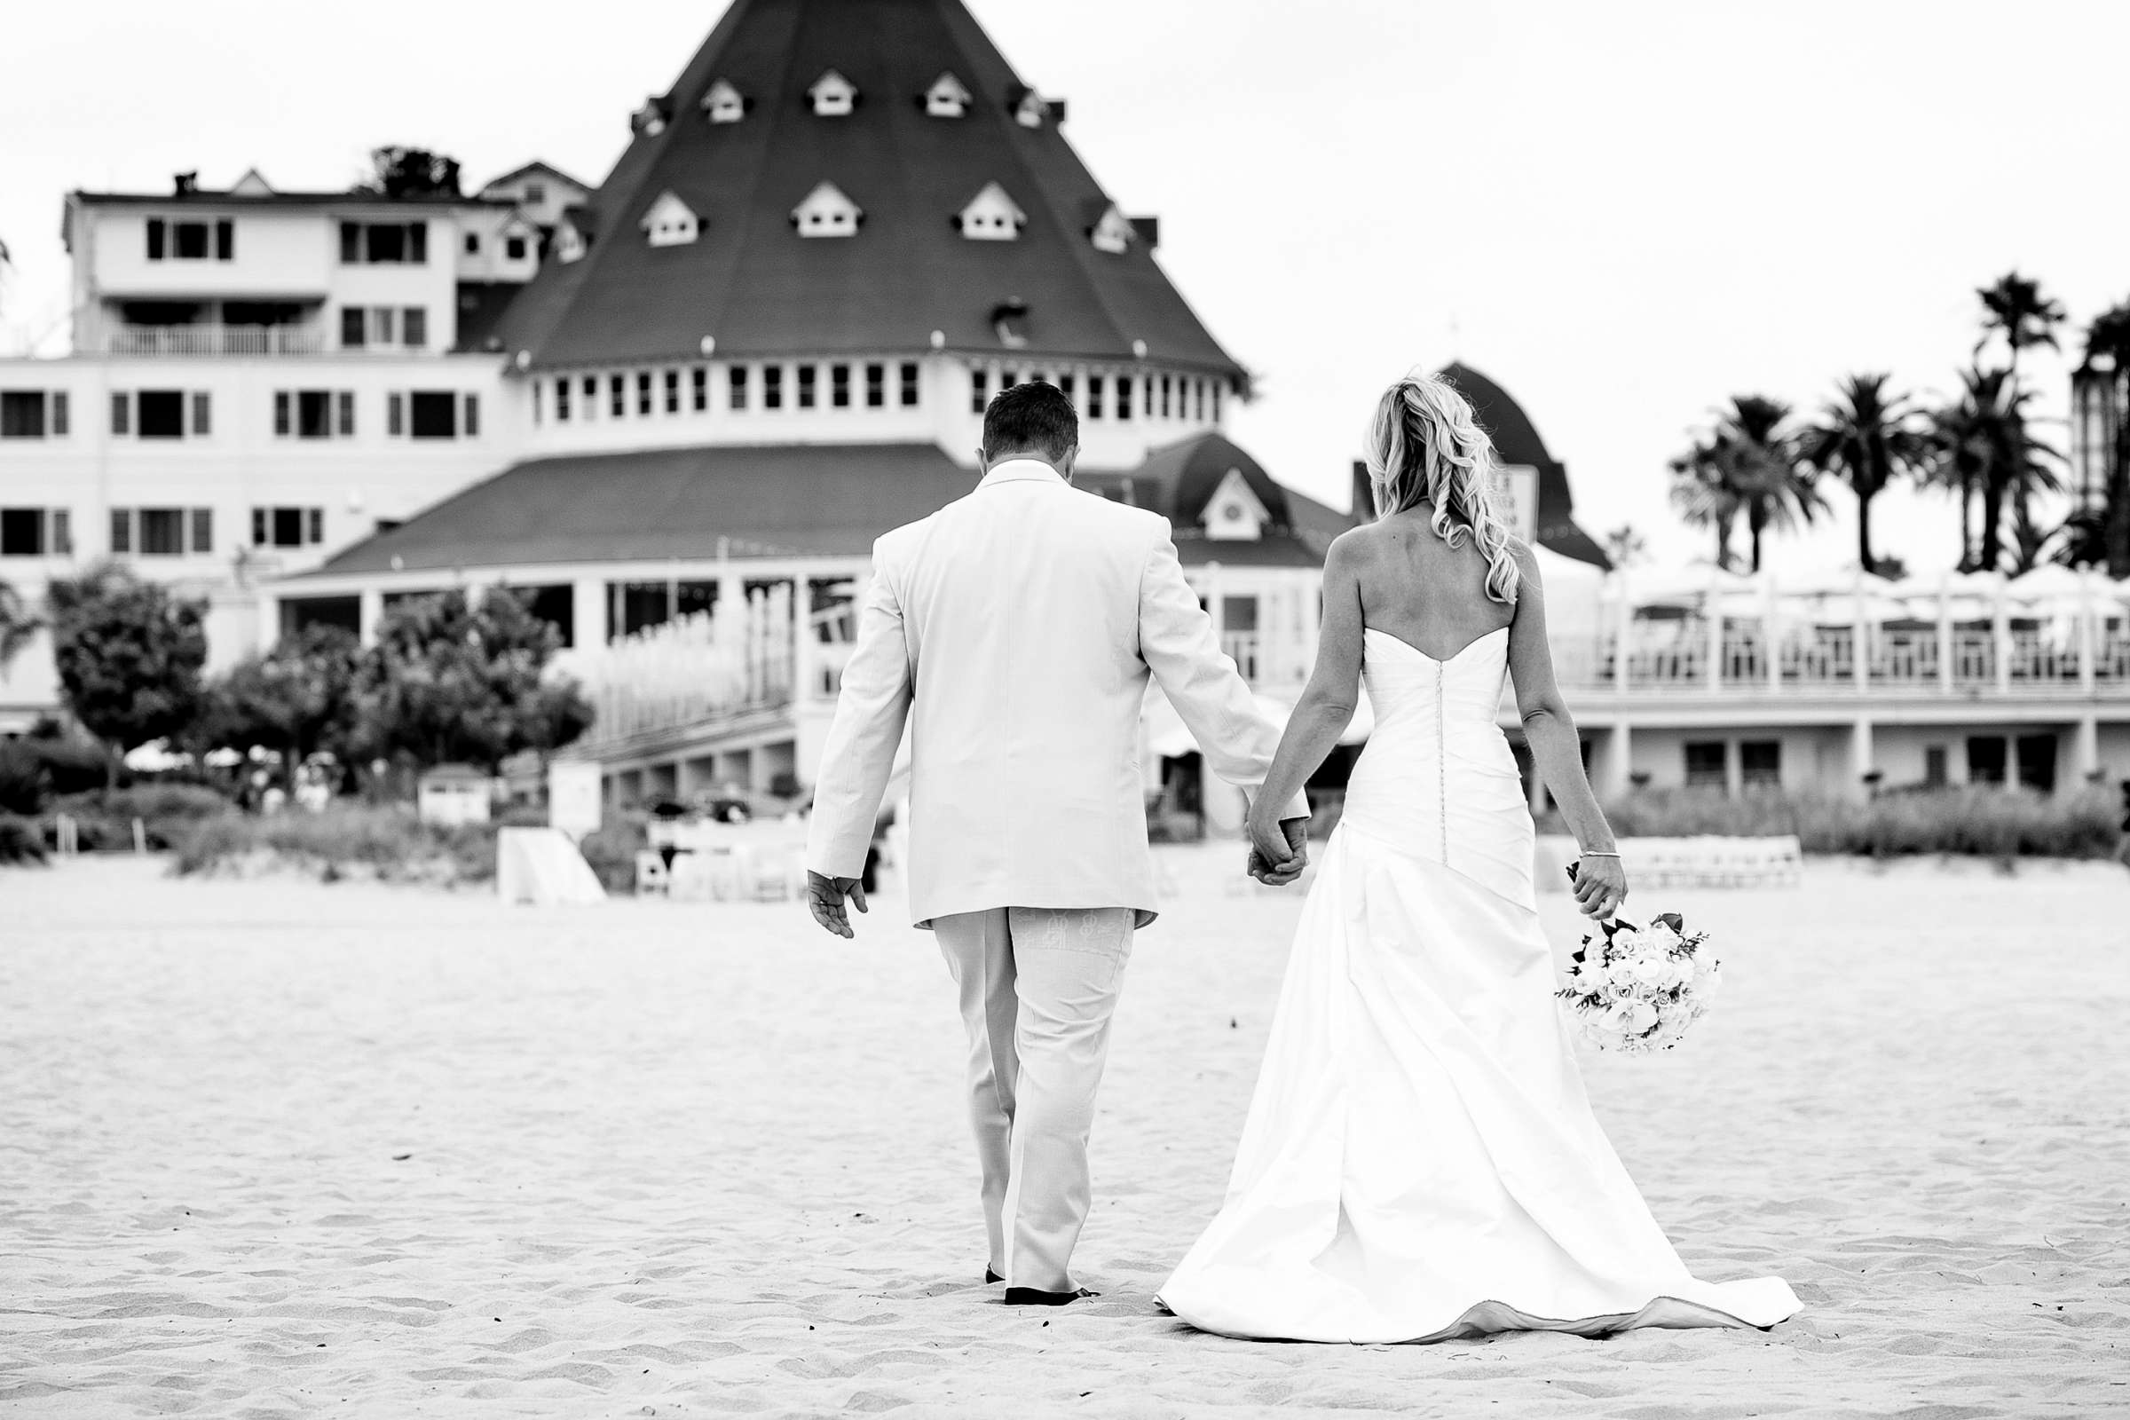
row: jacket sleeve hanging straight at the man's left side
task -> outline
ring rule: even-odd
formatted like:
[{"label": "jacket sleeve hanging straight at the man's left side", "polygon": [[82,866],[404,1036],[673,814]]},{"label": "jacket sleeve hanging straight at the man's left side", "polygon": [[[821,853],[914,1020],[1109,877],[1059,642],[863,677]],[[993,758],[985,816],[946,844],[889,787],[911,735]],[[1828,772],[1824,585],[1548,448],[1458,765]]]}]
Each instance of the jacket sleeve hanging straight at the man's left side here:
[{"label": "jacket sleeve hanging straight at the man's left side", "polygon": [[835,720],[814,779],[805,864],[824,877],[858,877],[873,841],[880,796],[910,717],[910,643],[895,575],[873,543],[873,579],[858,611],[858,643],[843,664]]}]

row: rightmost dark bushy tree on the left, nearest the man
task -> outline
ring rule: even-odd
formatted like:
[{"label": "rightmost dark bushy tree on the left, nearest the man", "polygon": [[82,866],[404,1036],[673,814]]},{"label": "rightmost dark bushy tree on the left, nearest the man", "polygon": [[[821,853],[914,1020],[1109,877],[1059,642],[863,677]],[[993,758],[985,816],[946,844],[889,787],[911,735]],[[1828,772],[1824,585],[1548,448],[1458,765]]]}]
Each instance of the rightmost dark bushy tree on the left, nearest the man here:
[{"label": "rightmost dark bushy tree on the left, nearest the man", "polygon": [[417,766],[494,771],[520,749],[556,749],[592,724],[575,681],[545,679],[560,632],[509,590],[400,602],[356,671],[356,747]]}]

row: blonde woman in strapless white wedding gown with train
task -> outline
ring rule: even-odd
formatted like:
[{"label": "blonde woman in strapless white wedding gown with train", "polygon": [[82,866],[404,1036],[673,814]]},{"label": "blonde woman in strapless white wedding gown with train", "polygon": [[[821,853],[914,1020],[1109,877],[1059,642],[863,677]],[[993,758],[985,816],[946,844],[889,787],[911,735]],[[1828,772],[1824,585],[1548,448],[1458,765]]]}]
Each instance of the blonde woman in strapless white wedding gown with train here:
[{"label": "blonde woman in strapless white wedding gown with train", "polygon": [[1531,896],[1531,818],[1495,726],[1504,673],[1583,845],[1576,898],[1627,898],[1553,683],[1529,547],[1493,505],[1493,447],[1448,383],[1376,407],[1378,519],[1331,545],[1323,641],[1250,813],[1272,818],[1367,681],[1376,730],[1301,909],[1220,1216],[1161,1288],[1203,1331],[1438,1341],[1489,1331],[1772,1326],[1779,1277],[1700,1282],[1591,1116]]}]

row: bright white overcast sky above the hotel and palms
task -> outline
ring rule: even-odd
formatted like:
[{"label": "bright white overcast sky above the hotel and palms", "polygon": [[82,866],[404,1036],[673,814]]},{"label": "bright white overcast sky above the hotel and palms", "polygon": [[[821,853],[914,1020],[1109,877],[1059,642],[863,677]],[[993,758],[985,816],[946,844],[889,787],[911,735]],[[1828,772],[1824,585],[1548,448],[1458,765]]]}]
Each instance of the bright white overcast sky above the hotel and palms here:
[{"label": "bright white overcast sky above the hotel and palms", "polygon": [[[0,49],[0,324],[66,311],[70,187],[360,177],[383,143],[469,185],[545,158],[599,181],[718,0],[98,0],[13,6]],[[2077,330],[2130,300],[2130,6],[1970,0],[971,0],[1257,398],[1231,434],[1344,507],[1376,394],[1453,358],[1525,407],[1593,534],[1708,558],[1666,462],[1732,394],[1817,411],[1885,370],[1957,390],[1975,287],[2038,277]],[[2070,360],[2024,362],[2062,419]],[[2062,443],[2062,426],[2051,436]],[[1774,539],[1855,562],[1853,500]],[[1957,556],[1938,494],[1874,507],[1881,556]]]}]

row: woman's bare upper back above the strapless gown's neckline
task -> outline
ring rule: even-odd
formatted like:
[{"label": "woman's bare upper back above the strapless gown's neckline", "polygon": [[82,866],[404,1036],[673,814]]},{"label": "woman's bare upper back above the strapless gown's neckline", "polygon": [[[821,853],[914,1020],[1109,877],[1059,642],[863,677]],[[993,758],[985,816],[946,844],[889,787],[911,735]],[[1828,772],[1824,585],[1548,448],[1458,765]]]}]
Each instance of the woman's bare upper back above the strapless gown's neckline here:
[{"label": "woman's bare upper back above the strapless gown's neckline", "polygon": [[1487,556],[1472,536],[1457,547],[1433,530],[1433,507],[1416,502],[1361,532],[1361,624],[1451,660],[1517,617],[1487,594]]}]

